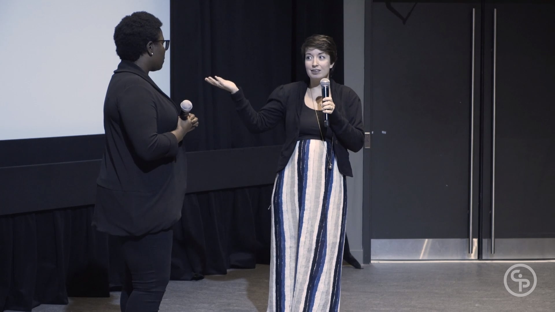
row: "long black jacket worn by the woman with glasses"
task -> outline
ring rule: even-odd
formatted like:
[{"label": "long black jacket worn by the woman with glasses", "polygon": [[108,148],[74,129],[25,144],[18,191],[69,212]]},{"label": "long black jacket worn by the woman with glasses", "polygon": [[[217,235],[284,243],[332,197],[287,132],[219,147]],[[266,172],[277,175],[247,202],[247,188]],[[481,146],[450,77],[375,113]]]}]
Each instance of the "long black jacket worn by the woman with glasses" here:
[{"label": "long black jacket worn by the woman with glasses", "polygon": [[122,61],[104,100],[105,152],[93,226],[113,235],[164,230],[181,218],[185,150],[179,110],[140,67]]}]

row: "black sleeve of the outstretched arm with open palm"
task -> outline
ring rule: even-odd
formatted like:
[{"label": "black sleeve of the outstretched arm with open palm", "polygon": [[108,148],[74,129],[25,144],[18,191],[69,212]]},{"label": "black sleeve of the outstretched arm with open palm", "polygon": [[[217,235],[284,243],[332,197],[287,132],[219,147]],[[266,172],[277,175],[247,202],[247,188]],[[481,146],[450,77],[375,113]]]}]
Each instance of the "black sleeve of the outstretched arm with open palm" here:
[{"label": "black sleeve of the outstretched arm with open palm", "polygon": [[231,99],[236,104],[239,118],[253,133],[261,133],[274,128],[285,116],[286,96],[284,87],[281,85],[276,88],[268,97],[268,101],[263,108],[256,112],[249,100],[245,98],[243,89],[231,94]]}]

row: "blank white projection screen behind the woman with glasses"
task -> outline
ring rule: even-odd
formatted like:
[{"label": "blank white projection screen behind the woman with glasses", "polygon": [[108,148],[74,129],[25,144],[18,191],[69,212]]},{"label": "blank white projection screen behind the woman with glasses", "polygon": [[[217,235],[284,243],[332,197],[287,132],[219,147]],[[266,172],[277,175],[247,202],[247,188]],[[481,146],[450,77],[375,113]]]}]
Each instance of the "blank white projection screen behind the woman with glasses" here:
[{"label": "blank white projection screen behind the woman with glasses", "polygon": [[[0,140],[103,134],[114,27],[135,11],[171,39],[169,0],[0,0]],[[170,51],[150,73],[168,95]]]}]

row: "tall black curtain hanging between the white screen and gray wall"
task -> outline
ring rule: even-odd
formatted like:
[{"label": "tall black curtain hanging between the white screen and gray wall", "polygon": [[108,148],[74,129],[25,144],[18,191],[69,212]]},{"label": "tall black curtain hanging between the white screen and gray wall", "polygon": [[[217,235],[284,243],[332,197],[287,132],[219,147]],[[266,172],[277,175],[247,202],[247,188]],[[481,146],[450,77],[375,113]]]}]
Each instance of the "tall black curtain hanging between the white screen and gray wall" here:
[{"label": "tall black curtain hanging between the white screen and gray wall", "polygon": [[[189,151],[282,144],[283,127],[251,134],[229,93],[204,81],[233,80],[255,109],[280,84],[306,77],[301,44],[311,34],[334,37],[343,53],[343,2],[316,0],[171,1],[171,98],[193,102],[201,127]],[[343,83],[341,59],[333,78]]]}]

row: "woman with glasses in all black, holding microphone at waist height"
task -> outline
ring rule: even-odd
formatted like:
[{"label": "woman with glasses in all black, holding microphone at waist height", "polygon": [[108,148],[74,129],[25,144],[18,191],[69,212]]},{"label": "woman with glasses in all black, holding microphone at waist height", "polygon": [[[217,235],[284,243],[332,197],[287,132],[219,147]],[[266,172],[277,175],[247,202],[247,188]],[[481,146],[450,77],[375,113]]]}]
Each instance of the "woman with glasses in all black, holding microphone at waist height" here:
[{"label": "woman with glasses in all black, holding microphone at waist height", "polygon": [[173,101],[148,76],[164,64],[169,40],[147,12],[115,27],[121,62],[104,100],[105,152],[93,226],[122,250],[122,312],[158,311],[170,278],[172,225],[185,197],[185,135],[198,125],[179,118]]}]

